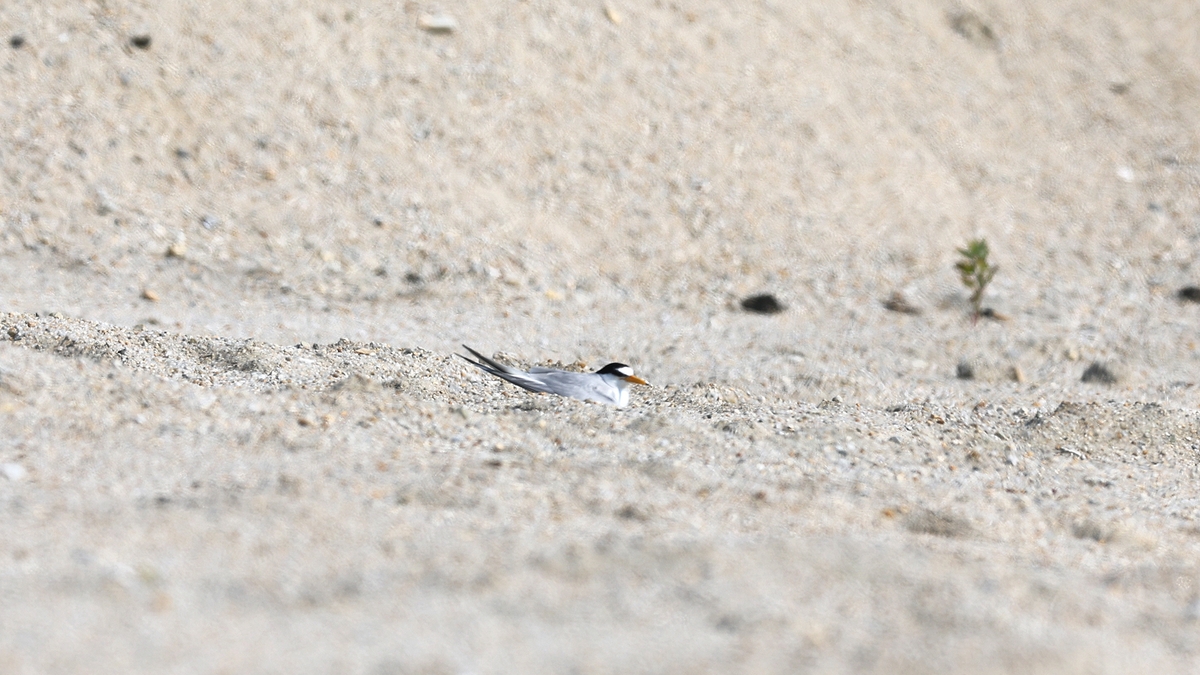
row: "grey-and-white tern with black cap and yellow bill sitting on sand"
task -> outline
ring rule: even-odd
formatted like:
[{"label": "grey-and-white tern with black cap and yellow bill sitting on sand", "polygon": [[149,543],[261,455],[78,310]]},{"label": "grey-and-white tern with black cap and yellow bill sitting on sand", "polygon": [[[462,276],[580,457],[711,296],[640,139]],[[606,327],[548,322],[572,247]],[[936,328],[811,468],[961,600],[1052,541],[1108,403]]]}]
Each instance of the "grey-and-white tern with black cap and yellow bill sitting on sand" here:
[{"label": "grey-and-white tern with black cap and yellow bill sitting on sand", "polygon": [[522,389],[540,394],[558,394],[581,401],[625,407],[629,405],[630,384],[649,386],[649,382],[634,375],[634,369],[623,363],[611,363],[595,372],[570,372],[553,368],[530,368],[527,372],[499,364],[467,345],[462,347],[479,359],[470,360],[457,354],[462,360]]}]

